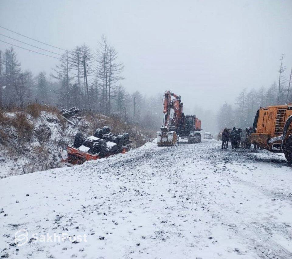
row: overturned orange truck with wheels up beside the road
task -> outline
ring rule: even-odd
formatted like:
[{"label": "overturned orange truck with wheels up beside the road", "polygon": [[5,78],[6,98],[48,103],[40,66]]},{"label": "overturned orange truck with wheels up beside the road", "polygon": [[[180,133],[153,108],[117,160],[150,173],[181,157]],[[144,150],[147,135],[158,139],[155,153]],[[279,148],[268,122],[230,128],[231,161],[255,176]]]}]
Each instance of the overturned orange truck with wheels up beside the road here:
[{"label": "overturned orange truck with wheels up beside the road", "polygon": [[82,133],[75,135],[74,144],[62,153],[62,160],[66,165],[81,165],[88,160],[96,160],[117,153],[126,153],[131,149],[132,141],[129,133],[115,135],[109,127],[97,129],[93,136],[84,138]]}]

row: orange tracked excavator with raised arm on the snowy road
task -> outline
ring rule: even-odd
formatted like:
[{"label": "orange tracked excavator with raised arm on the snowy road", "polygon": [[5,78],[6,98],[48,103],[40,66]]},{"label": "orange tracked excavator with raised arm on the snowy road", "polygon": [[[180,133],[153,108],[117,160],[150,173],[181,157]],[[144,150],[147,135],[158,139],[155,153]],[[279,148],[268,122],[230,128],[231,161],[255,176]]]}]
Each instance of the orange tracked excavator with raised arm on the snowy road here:
[{"label": "orange tracked excavator with raised arm on the snowy road", "polygon": [[[157,145],[174,146],[179,142],[179,138],[187,139],[187,141],[182,141],[187,143],[201,142],[201,121],[196,115],[185,116],[181,97],[168,90],[162,97],[162,103],[164,118],[163,125],[157,132]],[[171,109],[174,110],[173,116],[171,116]]]}]

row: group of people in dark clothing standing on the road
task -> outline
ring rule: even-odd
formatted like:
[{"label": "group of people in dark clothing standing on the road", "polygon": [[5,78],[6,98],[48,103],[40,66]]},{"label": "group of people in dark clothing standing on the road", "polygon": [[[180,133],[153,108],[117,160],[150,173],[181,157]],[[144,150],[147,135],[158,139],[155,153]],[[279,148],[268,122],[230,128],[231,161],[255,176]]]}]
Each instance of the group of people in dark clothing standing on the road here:
[{"label": "group of people in dark clothing standing on the road", "polygon": [[235,127],[231,129],[225,128],[222,132],[222,146],[221,148],[228,148],[228,142],[231,141],[231,148],[250,148],[250,135],[252,133],[252,128],[236,129]]}]

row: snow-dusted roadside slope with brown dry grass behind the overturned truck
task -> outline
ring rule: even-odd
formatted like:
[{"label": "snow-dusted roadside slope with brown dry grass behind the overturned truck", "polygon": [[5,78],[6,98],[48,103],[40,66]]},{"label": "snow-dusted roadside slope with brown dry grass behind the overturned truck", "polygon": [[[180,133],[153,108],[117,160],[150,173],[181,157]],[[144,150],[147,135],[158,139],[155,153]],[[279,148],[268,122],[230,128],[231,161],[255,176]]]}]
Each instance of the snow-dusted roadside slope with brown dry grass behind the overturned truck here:
[{"label": "snow-dusted roadside slope with brown dry grass behind the overturned truck", "polygon": [[36,104],[33,108],[39,109],[37,113],[0,111],[0,179],[63,167],[61,152],[73,143],[77,132],[90,136],[96,128],[107,125],[115,133],[130,133],[132,148],[150,140],[138,127],[104,115],[71,118],[73,126],[55,108]]}]

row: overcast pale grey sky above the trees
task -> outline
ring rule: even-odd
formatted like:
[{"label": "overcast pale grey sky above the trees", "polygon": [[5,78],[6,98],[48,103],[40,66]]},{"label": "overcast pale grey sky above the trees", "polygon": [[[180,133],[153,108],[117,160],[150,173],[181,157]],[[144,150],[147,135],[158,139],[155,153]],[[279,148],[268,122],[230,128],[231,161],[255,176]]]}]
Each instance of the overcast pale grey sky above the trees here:
[{"label": "overcast pale grey sky above the trees", "polygon": [[[0,0],[0,25],[64,49],[82,43],[96,49],[105,34],[125,65],[122,84],[129,92],[171,89],[185,110],[233,104],[244,87],[270,86],[278,80],[282,53],[287,76],[292,66],[291,0]],[[0,33],[61,53],[2,28]],[[0,42],[0,49],[7,47]],[[15,49],[23,69],[35,74],[49,74],[57,61]]]}]

